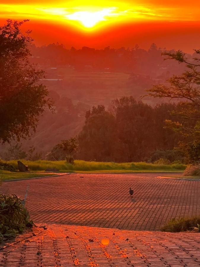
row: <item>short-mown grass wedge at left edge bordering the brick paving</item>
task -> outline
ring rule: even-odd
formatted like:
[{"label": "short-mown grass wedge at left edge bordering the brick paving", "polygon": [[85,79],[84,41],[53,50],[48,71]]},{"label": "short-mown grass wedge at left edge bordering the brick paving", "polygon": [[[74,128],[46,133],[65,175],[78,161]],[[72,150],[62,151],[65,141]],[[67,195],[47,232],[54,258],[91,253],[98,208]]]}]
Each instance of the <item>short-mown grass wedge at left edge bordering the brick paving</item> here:
[{"label": "short-mown grass wedge at left edge bordering the brick paving", "polygon": [[2,181],[4,180],[14,180],[14,179],[27,179],[34,177],[45,177],[52,176],[54,174],[50,173],[32,173],[32,172],[11,172],[11,171],[2,171],[0,170],[0,178]]}]

